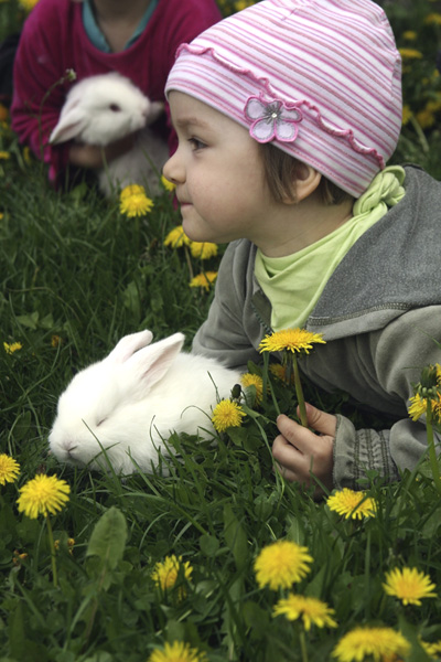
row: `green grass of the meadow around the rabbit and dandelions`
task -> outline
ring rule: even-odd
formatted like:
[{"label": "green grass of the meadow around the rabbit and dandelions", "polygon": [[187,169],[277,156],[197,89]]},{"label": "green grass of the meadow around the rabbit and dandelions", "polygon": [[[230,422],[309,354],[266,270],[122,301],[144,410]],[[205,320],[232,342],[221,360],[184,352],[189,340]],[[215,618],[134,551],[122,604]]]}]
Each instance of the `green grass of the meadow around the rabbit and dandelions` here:
[{"label": "green grass of the meadow around the rabbit and dandelions", "polygon": [[[4,35],[18,14],[14,2],[0,7]],[[411,7],[407,14],[390,9],[400,45],[406,30],[427,31],[424,15],[435,4]],[[420,39],[417,45],[427,52],[428,33]],[[413,76],[406,89],[422,85],[423,66],[433,71],[429,55],[406,74]],[[420,89],[419,102],[409,96],[413,117],[438,94],[433,79]],[[432,127],[405,128],[395,160],[418,161],[440,177],[437,113]],[[419,638],[441,640],[440,495],[427,461],[395,484],[367,477],[361,487],[376,500],[377,513],[357,521],[340,517],[275,476],[271,398],[255,407],[241,431],[217,436],[215,446],[172,436],[168,444],[180,460],[163,458],[168,472],[121,481],[61,466],[49,455],[58,395],[119,338],[144,328],[157,338],[183,331],[190,346],[212,292],[190,288],[189,281],[201,268],[216,270],[222,250],[201,264],[163,245],[180,223],[165,191],[137,225],[83,183],[53,191],[42,166],[25,161],[6,127],[3,150],[11,156],[0,160],[0,452],[15,458],[21,473],[0,485],[0,662],[143,662],[174,640],[205,651],[211,662],[323,662],[359,624],[400,630],[411,643],[408,661],[440,659],[419,644]],[[22,349],[9,354],[3,342],[20,342]],[[272,387],[281,409],[292,413],[291,389],[276,381]],[[358,427],[386,425],[351,408],[345,394],[331,397],[306,385],[306,396],[344,412]],[[51,517],[60,541],[57,586],[44,517],[31,520],[17,508],[18,490],[37,472],[71,487],[68,503]],[[75,540],[72,553],[68,538]],[[254,560],[281,538],[308,547],[311,573],[295,591],[326,601],[337,628],[304,633],[300,621],[272,617],[283,591],[258,587]],[[18,554],[26,556],[17,559]],[[163,592],[151,573],[171,554],[193,572],[190,581],[181,575]],[[385,574],[405,566],[429,575],[438,597],[405,607],[386,596]]]}]

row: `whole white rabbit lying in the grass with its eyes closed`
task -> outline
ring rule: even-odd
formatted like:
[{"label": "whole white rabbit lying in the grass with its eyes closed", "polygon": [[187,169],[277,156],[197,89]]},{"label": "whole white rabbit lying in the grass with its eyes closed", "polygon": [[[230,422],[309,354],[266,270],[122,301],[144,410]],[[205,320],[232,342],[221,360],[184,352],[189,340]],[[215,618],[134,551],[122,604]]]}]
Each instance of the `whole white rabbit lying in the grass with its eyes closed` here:
[{"label": "whole white rabbit lying in the grass with its eyes closed", "polygon": [[171,431],[211,438],[212,409],[229,397],[240,373],[181,352],[182,333],[151,340],[147,330],[126,335],[106,359],[75,375],[49,436],[60,461],[107,472],[110,463],[123,476],[136,465],[151,472],[157,449],[166,455]]}]

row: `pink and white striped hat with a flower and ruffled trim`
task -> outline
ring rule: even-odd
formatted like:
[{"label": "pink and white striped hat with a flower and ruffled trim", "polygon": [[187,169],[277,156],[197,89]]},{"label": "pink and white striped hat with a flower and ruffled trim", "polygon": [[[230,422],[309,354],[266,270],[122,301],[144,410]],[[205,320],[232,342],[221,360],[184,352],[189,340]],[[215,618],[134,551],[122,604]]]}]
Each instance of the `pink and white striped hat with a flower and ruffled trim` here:
[{"label": "pink and white striped hat with a flower and ruffled trim", "polygon": [[182,44],[184,92],[358,197],[401,127],[401,61],[372,0],[262,0]]}]

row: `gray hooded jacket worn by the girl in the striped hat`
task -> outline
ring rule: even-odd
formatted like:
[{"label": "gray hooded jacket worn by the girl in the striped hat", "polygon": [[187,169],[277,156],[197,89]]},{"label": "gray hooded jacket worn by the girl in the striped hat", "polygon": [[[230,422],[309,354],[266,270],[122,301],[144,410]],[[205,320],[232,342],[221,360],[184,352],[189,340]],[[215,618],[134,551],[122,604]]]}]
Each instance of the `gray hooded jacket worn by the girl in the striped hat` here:
[{"label": "gray hooded jacket worn by the girl in the striped hat", "polygon": [[[398,469],[415,468],[427,449],[424,424],[413,423],[407,408],[421,369],[441,363],[441,183],[410,166],[405,188],[405,197],[340,263],[306,322],[326,341],[300,362],[308,377],[398,419],[376,431],[356,430],[337,416],[337,488],[359,489],[369,469],[396,480]],[[193,352],[230,367],[260,362],[271,305],[255,278],[255,256],[247,239],[228,246]]]}]

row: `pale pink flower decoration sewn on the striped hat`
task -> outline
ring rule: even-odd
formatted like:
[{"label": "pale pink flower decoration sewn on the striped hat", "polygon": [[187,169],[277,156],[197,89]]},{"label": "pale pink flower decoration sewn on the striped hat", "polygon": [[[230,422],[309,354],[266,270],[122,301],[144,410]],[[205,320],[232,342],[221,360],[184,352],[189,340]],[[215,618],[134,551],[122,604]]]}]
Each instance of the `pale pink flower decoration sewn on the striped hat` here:
[{"label": "pale pink flower decoration sewn on the striped hat", "polygon": [[252,124],[249,135],[258,142],[293,142],[299,132],[299,121],[303,116],[294,105],[287,105],[281,99],[266,102],[261,96],[249,97],[244,109],[247,119]]}]

